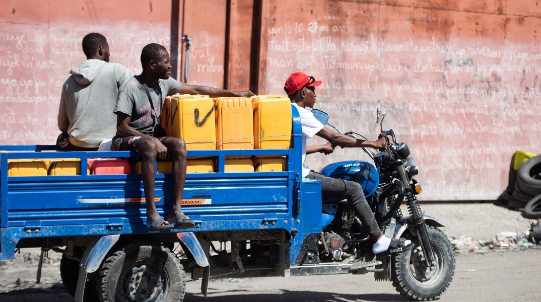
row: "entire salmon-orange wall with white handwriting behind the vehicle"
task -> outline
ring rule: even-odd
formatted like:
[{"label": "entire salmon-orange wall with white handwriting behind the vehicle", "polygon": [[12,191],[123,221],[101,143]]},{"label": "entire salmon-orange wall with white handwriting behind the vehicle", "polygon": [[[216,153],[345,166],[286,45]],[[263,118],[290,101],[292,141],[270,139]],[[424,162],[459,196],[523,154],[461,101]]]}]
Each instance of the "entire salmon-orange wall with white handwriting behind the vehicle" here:
[{"label": "entire salmon-orange wall with white handwriting behind the vehicle", "polygon": [[[187,33],[190,83],[283,94],[304,71],[324,81],[316,108],[329,123],[371,139],[381,100],[385,128],[420,167],[421,198],[495,198],[514,150],[540,153],[539,29],[531,0],[0,0],[0,140],[54,143],[61,86],[88,32],[134,73],[144,45],[165,45],[178,79]],[[367,157],[307,160],[319,170],[346,159]]]}]

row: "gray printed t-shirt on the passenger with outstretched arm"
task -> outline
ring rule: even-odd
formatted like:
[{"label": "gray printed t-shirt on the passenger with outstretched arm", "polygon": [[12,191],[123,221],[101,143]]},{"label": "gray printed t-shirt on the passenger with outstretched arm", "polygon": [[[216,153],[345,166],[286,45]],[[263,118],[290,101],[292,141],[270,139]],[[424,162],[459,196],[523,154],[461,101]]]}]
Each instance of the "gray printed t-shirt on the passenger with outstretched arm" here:
[{"label": "gray printed t-shirt on the passenger with outstretched arm", "polygon": [[118,98],[113,112],[126,113],[131,117],[130,127],[143,134],[154,135],[154,125],[159,121],[156,116],[162,115],[163,101],[166,96],[179,92],[181,87],[182,83],[171,77],[158,80],[154,89],[148,89],[154,105],[154,110],[152,110],[144,86],[131,77],[118,89]]}]

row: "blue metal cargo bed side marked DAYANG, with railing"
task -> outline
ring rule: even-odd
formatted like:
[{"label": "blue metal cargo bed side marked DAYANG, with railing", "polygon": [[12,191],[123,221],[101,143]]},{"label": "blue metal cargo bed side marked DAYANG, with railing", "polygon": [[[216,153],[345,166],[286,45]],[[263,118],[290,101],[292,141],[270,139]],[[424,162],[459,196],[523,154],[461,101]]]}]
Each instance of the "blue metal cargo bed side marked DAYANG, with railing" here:
[{"label": "blue metal cargo bed side marked DAYANG, with railing", "polygon": [[[214,157],[217,172],[187,175],[182,209],[196,226],[183,232],[296,229],[292,263],[306,234],[321,232],[321,185],[301,179],[301,126],[292,111],[292,149],[188,151],[188,157]],[[23,238],[148,233],[140,175],[87,175],[88,158],[138,153],[54,152],[56,146],[0,150],[8,151],[0,153],[0,259],[12,258]],[[226,156],[238,155],[284,156],[288,171],[223,172]],[[8,177],[8,159],[18,158],[81,158],[82,175]],[[162,216],[171,208],[171,181],[171,175],[156,174],[155,203]]]}]

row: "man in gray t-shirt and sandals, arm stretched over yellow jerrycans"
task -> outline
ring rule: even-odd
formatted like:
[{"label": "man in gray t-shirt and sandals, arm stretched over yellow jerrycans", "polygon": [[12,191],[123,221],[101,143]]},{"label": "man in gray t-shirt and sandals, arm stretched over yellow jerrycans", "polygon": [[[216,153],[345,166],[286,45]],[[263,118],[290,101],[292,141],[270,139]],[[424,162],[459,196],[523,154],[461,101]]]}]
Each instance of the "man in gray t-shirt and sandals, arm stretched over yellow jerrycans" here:
[{"label": "man in gray t-shirt and sandals, arm stretched over yellow jerrycans", "polygon": [[[148,44],[141,51],[141,75],[131,77],[118,90],[113,112],[117,115],[116,136],[111,150],[134,150],[141,153],[141,176],[147,205],[149,231],[173,228],[189,229],[192,219],[181,210],[182,191],[186,179],[186,145],[181,138],[166,136],[160,127],[161,110],[166,96],[175,93],[208,95],[210,97],[250,97],[249,91],[229,91],[207,86],[181,84],[170,78],[171,64],[167,49]],[[154,204],[154,162],[173,159],[173,208],[167,220],[160,217]]]}]

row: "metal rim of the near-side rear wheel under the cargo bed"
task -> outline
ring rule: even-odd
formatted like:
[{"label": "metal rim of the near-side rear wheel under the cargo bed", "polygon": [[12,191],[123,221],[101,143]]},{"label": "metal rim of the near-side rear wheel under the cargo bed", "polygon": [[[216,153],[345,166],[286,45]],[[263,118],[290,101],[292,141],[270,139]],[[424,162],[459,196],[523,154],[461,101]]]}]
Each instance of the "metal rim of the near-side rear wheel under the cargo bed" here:
[{"label": "metal rim of the near-side rear wheel under the cargo bed", "polygon": [[162,302],[167,297],[169,276],[153,261],[137,261],[123,270],[120,292],[124,301]]}]

